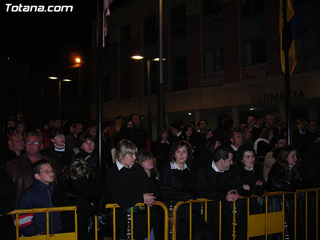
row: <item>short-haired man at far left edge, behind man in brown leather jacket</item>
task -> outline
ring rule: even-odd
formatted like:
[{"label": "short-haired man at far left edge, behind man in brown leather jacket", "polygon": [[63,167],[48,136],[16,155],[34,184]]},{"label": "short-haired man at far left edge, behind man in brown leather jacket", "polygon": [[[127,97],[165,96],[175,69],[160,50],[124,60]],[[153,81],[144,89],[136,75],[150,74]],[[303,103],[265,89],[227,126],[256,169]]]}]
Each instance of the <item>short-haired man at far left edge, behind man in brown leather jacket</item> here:
[{"label": "short-haired man at far left edge, behind man in brown leather jacket", "polygon": [[5,149],[0,156],[0,168],[4,170],[5,164],[19,156],[24,150],[24,141],[19,133],[11,133],[7,139],[8,148]]}]

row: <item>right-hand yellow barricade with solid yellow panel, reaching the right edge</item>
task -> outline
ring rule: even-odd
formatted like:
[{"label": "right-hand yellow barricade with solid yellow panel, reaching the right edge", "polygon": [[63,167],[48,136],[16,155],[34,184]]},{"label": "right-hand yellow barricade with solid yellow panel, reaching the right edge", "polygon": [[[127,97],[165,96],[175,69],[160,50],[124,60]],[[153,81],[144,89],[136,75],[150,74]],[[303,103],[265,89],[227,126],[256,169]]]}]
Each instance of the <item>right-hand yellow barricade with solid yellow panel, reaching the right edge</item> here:
[{"label": "right-hand yellow barricade with solid yellow panel, reaching the right edge", "polygon": [[[320,188],[311,188],[311,189],[303,189],[303,190],[297,190],[295,192],[284,192],[284,191],[278,191],[278,192],[267,192],[264,193],[262,196],[257,196],[257,195],[252,195],[250,197],[239,197],[239,199],[246,199],[247,200],[247,212],[246,212],[246,219],[247,219],[247,239],[249,239],[249,237],[253,237],[253,236],[260,236],[260,235],[264,235],[265,239],[267,239],[267,235],[268,234],[273,234],[273,233],[282,233],[282,239],[284,239],[285,233],[284,233],[284,223],[285,223],[285,217],[284,217],[284,202],[285,202],[285,195],[288,194],[294,194],[294,240],[299,239],[296,237],[296,214],[297,214],[297,203],[296,203],[296,198],[297,198],[297,194],[303,194],[304,193],[304,239],[308,239],[307,234],[308,232],[312,232],[313,229],[308,228],[308,192],[314,192],[315,193],[315,206],[314,206],[314,210],[315,210],[315,219],[314,219],[314,223],[315,223],[315,229],[314,229],[314,237],[313,239],[319,239],[319,222],[318,222],[318,210],[319,210],[319,202],[318,202],[318,194],[319,194]],[[282,209],[280,211],[273,211],[273,212],[268,212],[268,197],[272,197],[272,196],[282,196],[281,197],[281,205],[282,205]],[[253,197],[264,197],[264,213],[259,213],[259,214],[249,214],[249,206],[250,206],[250,198]],[[314,199],[313,199],[314,200]],[[192,203],[196,203],[196,202],[204,202],[205,206],[204,206],[204,219],[205,221],[207,221],[207,202],[208,201],[213,201],[213,200],[208,200],[208,199],[204,199],[204,198],[199,198],[196,200],[188,200],[185,202],[179,201],[178,203],[175,204],[173,211],[172,211],[172,219],[169,219],[171,221],[172,224],[172,239],[175,240],[176,239],[176,213],[177,213],[177,209],[180,205],[182,204],[189,204],[189,238],[191,240],[191,210],[192,210]],[[232,202],[233,203],[233,209],[232,209],[232,238],[235,239],[236,237],[236,202]],[[232,204],[231,203],[231,204]],[[221,226],[222,226],[222,222],[221,222],[221,212],[222,212],[222,207],[221,207],[221,201],[219,201],[219,239],[222,239],[221,236]],[[291,238],[290,238],[291,239]]]}]

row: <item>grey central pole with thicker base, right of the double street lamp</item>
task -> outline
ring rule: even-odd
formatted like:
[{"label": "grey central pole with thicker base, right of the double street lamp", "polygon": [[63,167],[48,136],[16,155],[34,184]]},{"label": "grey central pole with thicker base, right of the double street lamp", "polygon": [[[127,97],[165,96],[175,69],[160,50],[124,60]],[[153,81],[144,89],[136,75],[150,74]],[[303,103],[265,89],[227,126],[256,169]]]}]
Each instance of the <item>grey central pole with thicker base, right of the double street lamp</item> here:
[{"label": "grey central pole with thicker base, right of the double street lamp", "polygon": [[163,68],[162,68],[162,0],[159,0],[159,90],[158,90],[158,119],[157,132],[165,127],[164,121],[164,89],[163,89]]}]

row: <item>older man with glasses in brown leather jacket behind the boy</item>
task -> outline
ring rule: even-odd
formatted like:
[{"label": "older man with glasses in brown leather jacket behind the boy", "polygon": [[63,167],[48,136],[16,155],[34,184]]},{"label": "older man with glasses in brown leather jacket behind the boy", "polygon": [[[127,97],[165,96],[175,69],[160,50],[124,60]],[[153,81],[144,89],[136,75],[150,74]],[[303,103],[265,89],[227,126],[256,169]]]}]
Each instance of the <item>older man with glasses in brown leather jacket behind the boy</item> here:
[{"label": "older man with glasses in brown leather jacket behind the boy", "polygon": [[[25,153],[19,155],[16,158],[9,160],[5,165],[5,171],[11,176],[15,188],[16,194],[19,198],[22,191],[29,187],[33,181],[34,177],[32,174],[32,163],[40,159],[48,159],[47,157],[40,154],[42,149],[42,137],[38,132],[28,132],[24,140]],[[52,161],[52,168],[59,172],[59,167]],[[56,180],[55,174],[55,180]]]}]

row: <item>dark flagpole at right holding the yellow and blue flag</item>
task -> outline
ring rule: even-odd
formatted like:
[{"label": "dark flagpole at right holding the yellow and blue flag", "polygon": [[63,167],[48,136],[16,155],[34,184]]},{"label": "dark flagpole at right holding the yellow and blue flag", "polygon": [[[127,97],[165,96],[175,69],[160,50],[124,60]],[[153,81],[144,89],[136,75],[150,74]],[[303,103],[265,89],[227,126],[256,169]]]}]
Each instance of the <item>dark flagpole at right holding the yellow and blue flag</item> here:
[{"label": "dark flagpole at right holding the yellow and blue flag", "polygon": [[285,111],[286,111],[288,144],[291,144],[290,70],[289,70],[289,49],[288,49],[288,34],[287,34],[288,24],[287,24],[287,18],[286,18],[286,0],[282,0],[282,3],[283,3],[282,5],[282,17],[283,17],[282,44],[284,43],[284,64],[285,64],[284,76],[285,76],[285,96],[286,96]]}]

